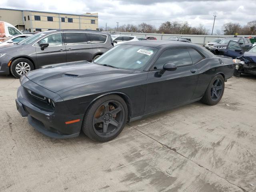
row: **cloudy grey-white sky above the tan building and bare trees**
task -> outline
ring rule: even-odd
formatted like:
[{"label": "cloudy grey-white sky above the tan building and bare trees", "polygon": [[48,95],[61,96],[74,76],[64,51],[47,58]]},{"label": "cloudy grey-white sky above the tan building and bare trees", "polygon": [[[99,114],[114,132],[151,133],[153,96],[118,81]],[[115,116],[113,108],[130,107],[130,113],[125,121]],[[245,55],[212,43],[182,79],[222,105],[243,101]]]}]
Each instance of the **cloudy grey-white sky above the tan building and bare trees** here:
[{"label": "cloudy grey-white sky above the tan building and bare trees", "polygon": [[99,26],[115,27],[116,22],[140,24],[146,22],[159,27],[165,21],[188,21],[215,29],[226,22],[244,25],[256,20],[256,0],[0,0],[1,8],[40,10],[83,14],[98,12]]}]

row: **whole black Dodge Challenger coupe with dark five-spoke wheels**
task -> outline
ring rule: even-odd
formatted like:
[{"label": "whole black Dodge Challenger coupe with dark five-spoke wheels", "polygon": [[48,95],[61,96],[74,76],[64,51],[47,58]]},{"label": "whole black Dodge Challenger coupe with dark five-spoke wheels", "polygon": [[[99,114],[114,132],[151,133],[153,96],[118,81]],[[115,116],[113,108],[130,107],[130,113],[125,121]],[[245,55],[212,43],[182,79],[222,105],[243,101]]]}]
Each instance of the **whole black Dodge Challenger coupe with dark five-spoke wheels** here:
[{"label": "whole black Dodge Challenger coupe with dark five-spoke wheels", "polygon": [[234,62],[196,44],[120,44],[94,63],[50,66],[20,78],[16,106],[36,130],[71,138],[112,140],[126,122],[202,100],[217,104]]}]

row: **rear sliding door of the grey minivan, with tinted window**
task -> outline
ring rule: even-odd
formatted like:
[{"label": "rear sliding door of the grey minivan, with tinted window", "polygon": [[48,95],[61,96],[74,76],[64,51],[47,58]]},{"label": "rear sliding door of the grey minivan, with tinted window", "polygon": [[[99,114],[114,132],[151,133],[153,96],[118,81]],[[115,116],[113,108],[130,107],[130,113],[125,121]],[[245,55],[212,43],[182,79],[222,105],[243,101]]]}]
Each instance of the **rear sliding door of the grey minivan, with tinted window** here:
[{"label": "rear sliding door of the grey minivan, with tinted window", "polygon": [[65,32],[67,62],[92,60],[92,44],[84,32]]}]

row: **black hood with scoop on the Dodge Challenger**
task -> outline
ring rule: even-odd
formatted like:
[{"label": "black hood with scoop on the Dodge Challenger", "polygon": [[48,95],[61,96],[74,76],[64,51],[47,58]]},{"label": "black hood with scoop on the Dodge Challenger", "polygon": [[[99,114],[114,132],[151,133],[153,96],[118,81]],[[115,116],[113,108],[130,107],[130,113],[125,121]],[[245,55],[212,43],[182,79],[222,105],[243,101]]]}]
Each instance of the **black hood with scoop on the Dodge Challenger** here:
[{"label": "black hood with scoop on the Dodge Challenger", "polygon": [[89,62],[74,62],[34,70],[27,73],[26,77],[52,92],[58,92],[79,84],[124,76],[132,72]]}]

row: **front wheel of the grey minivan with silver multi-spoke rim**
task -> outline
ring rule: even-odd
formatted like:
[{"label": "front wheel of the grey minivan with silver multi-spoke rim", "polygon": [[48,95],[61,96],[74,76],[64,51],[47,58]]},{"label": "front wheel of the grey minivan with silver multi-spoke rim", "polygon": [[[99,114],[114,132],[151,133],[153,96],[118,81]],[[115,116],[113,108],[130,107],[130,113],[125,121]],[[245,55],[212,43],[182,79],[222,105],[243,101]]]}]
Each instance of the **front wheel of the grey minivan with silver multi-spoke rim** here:
[{"label": "front wheel of the grey minivan with silver multi-spoke rim", "polygon": [[18,69],[16,70],[16,67],[20,68],[20,66],[26,66],[26,68],[23,69],[22,74],[25,74],[26,72],[29,72],[29,71],[32,71],[34,70],[34,65],[32,64],[32,62],[28,59],[25,59],[25,58],[18,58],[18,59],[15,59],[12,61],[12,64],[10,66],[10,72],[12,73],[12,75],[15,77],[15,78],[20,78],[20,76],[22,74],[19,74],[18,73]]}]

